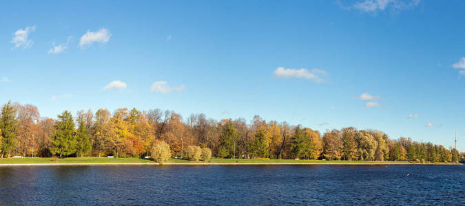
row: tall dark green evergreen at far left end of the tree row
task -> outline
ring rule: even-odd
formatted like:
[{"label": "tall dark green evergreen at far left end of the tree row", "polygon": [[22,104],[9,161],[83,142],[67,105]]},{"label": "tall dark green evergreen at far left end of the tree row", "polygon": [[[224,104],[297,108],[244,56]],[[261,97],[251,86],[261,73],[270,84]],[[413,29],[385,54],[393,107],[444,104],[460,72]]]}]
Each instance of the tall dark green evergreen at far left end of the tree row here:
[{"label": "tall dark green evergreen at far left end of the tree row", "polygon": [[2,153],[1,157],[10,157],[12,150],[16,146],[16,133],[17,133],[17,121],[14,119],[16,115],[16,109],[12,106],[11,102],[3,105],[1,108],[1,119],[0,119],[0,135]]}]

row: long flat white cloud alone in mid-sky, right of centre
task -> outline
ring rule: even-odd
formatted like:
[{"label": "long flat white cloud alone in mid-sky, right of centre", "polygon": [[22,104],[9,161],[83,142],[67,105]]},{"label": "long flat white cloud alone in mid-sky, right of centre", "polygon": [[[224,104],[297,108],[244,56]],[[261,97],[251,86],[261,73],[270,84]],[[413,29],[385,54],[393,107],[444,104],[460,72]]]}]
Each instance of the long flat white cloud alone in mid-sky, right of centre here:
[{"label": "long flat white cloud alone in mid-sky, right of centre", "polygon": [[278,67],[273,74],[276,78],[305,78],[313,80],[313,82],[322,82],[324,77],[328,76],[328,73],[321,69],[286,69],[284,67]]}]

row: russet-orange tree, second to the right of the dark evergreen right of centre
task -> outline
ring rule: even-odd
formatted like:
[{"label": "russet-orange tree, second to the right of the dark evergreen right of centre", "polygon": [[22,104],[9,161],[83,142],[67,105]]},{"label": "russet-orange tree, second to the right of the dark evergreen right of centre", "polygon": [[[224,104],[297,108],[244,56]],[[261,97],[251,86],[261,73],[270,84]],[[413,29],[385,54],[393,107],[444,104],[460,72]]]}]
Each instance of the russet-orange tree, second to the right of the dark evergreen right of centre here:
[{"label": "russet-orange tree, second to the right of the dark evergreen right of centre", "polygon": [[339,130],[327,131],[323,135],[324,143],[324,158],[326,159],[341,159],[342,148],[344,147],[342,135]]}]

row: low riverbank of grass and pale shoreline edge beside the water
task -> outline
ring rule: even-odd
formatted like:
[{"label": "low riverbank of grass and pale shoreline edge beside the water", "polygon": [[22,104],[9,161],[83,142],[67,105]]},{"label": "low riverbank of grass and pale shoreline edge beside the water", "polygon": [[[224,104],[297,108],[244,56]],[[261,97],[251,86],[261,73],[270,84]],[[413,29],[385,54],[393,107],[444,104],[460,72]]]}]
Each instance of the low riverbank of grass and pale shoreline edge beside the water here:
[{"label": "low riverbank of grass and pale shoreline edge beside the water", "polygon": [[[210,159],[209,162],[189,161],[187,159],[169,159],[166,165],[419,165],[409,161],[324,161],[296,159]],[[423,163],[451,165],[453,163]],[[3,158],[0,166],[13,165],[158,165],[152,159],[106,158],[106,157],[69,157],[53,158]]]}]

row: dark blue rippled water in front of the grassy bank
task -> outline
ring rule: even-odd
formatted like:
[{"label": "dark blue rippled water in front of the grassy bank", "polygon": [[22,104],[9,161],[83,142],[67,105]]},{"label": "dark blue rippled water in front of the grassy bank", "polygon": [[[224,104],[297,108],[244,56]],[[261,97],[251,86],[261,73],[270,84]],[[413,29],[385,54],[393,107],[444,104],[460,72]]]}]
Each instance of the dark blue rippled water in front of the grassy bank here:
[{"label": "dark blue rippled water in front of the grassy bank", "polygon": [[0,205],[465,205],[464,165],[0,167]]}]

